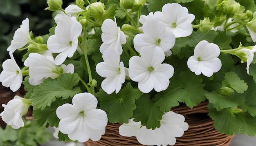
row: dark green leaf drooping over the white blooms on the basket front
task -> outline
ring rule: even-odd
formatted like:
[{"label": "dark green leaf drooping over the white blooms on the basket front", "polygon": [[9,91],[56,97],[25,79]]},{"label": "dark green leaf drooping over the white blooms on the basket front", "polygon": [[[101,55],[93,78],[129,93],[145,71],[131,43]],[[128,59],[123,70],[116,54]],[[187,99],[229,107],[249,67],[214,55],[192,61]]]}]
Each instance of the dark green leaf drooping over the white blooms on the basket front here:
[{"label": "dark green leaf drooping over the white blooms on the basket front", "polygon": [[160,127],[160,120],[164,112],[149,98],[148,94],[143,94],[136,100],[136,106],[137,108],[133,111],[133,120],[135,122],[140,121],[141,125],[146,126],[148,129]]}]

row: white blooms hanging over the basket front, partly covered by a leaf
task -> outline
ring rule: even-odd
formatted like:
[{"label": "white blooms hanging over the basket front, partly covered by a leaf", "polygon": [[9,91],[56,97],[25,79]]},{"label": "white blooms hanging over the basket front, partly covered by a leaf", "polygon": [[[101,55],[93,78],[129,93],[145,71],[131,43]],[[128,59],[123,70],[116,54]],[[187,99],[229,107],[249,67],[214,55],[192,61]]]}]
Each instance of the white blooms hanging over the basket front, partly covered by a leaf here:
[{"label": "white blooms hanging over the basket front, partly covered by a leaf", "polygon": [[161,126],[152,130],[130,119],[128,124],[122,124],[119,127],[119,134],[126,137],[136,136],[138,142],[143,145],[174,145],[175,137],[181,137],[189,128],[184,120],[183,115],[170,111],[162,116]]}]

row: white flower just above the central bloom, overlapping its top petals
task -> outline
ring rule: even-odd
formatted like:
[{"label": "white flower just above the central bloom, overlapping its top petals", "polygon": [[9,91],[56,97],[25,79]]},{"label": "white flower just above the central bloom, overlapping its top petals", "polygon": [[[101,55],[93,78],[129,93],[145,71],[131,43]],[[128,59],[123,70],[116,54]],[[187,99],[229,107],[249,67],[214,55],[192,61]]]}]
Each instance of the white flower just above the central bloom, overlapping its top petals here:
[{"label": "white flower just above the central bloom, overlapping its top petals", "polygon": [[142,29],[144,33],[135,35],[133,39],[134,48],[137,52],[140,52],[142,47],[154,49],[155,46],[159,46],[166,52],[175,44],[175,36],[171,31],[166,31],[163,22],[150,18],[143,24]]}]

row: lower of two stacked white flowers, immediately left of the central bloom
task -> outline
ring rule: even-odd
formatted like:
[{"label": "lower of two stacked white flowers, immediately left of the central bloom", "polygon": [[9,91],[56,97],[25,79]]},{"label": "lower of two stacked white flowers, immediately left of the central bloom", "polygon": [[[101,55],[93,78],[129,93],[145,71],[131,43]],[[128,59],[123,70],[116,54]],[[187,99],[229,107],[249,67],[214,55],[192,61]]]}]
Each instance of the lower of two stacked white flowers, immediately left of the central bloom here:
[{"label": "lower of two stacked white flowers, immediately left of the central bloom", "polygon": [[101,88],[108,94],[118,93],[125,81],[126,73],[124,62],[120,62],[119,53],[115,49],[107,49],[103,52],[104,62],[96,66],[96,71],[101,77],[106,77],[101,82]]}]

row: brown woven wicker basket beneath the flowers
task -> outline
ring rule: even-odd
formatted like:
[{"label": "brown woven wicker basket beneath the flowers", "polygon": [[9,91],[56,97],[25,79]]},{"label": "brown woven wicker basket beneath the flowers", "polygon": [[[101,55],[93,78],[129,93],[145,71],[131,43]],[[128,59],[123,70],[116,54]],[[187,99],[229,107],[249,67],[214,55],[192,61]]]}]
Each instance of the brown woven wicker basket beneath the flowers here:
[{"label": "brown woven wicker basket beneath the flowers", "polygon": [[[213,120],[207,115],[208,102],[202,102],[194,108],[186,105],[174,107],[171,111],[184,115],[189,129],[182,137],[176,138],[175,146],[229,146],[233,136],[220,134],[213,125]],[[136,137],[123,137],[119,135],[120,124],[108,123],[106,133],[98,142],[88,140],[85,146],[142,146]]]}]

